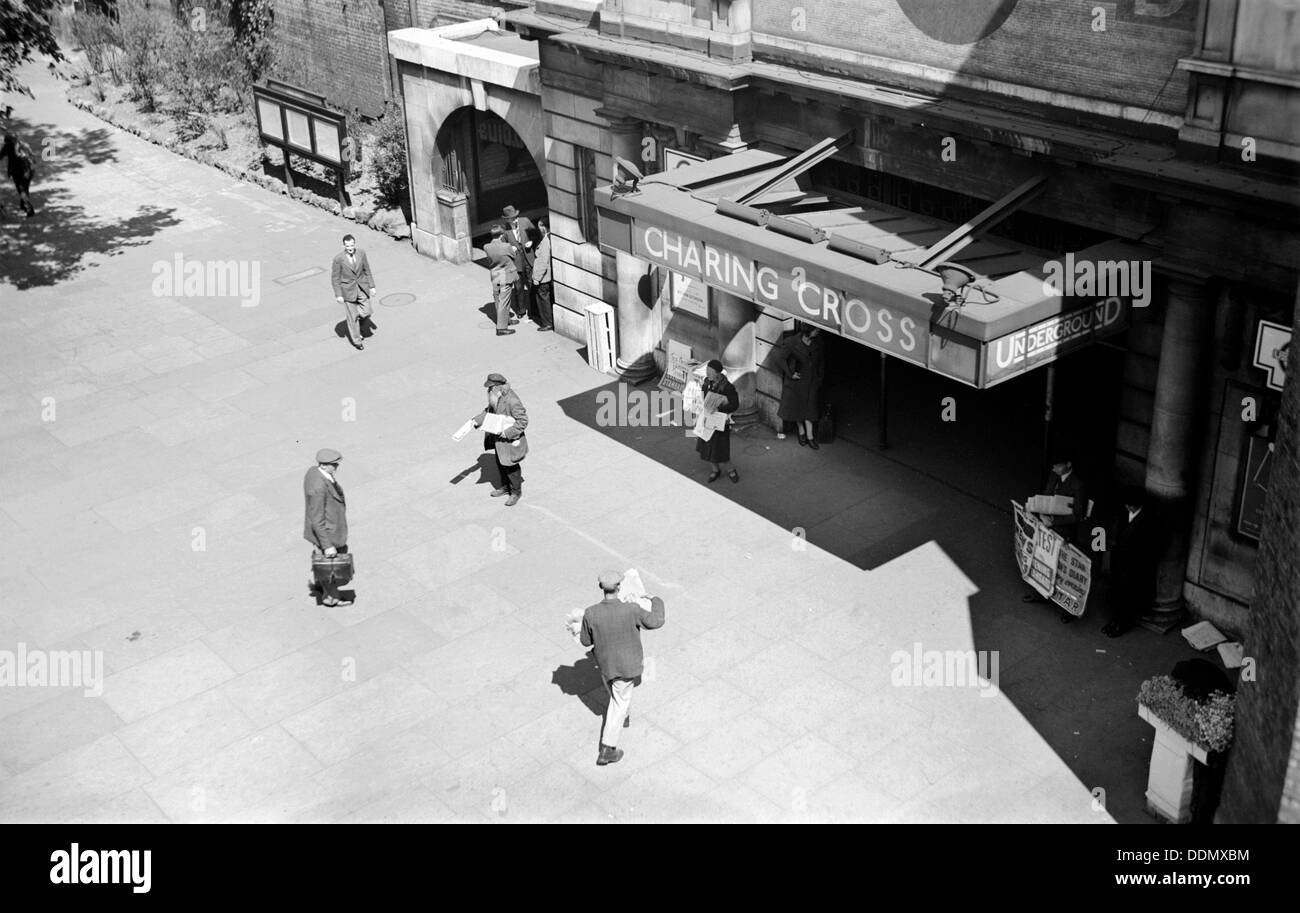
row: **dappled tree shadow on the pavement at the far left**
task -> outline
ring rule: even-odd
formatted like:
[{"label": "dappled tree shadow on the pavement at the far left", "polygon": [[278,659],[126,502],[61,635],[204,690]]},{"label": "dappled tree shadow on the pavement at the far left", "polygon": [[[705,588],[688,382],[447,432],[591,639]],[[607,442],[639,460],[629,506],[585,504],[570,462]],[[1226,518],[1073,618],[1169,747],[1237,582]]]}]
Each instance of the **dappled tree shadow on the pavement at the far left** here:
[{"label": "dappled tree shadow on the pavement at the far left", "polygon": [[[34,289],[65,282],[87,268],[96,256],[120,256],[155,234],[179,224],[173,208],[135,207],[134,215],[104,218],[82,207],[58,178],[82,168],[117,160],[114,131],[108,129],[64,130],[22,117],[8,127],[35,153],[31,203],[36,215],[27,218],[18,209],[12,181],[3,177],[0,203],[0,284]],[[124,207],[126,208],[126,207]],[[126,209],[130,213],[130,209]]]}]

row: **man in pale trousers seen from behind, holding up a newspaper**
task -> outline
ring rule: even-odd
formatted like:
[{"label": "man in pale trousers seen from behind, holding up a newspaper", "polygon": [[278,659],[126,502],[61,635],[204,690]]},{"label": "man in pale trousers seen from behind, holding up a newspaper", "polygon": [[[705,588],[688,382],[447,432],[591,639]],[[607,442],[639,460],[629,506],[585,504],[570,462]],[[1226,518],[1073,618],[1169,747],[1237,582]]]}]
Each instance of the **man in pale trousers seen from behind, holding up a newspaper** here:
[{"label": "man in pale trousers seen from behind, holding up a newspaper", "polygon": [[649,610],[636,601],[624,602],[618,596],[621,580],[623,575],[618,571],[601,574],[597,583],[603,598],[582,614],[580,635],[582,646],[595,648],[595,665],[601,667],[601,679],[610,692],[610,705],[601,730],[601,752],[595,758],[601,767],[623,758],[619,734],[632,722],[628,717],[632,689],[645,665],[641,629],[653,631],[662,628],[664,623],[663,600],[651,596]]}]

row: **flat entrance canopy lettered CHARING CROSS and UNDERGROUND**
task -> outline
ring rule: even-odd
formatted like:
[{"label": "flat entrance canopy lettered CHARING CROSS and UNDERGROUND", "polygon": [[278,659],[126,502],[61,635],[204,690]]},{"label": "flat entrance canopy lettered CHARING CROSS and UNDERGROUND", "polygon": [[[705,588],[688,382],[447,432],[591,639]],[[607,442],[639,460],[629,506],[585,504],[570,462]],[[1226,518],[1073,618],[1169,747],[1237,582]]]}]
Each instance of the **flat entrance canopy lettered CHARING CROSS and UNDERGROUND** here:
[{"label": "flat entrance canopy lettered CHARING CROSS and UNDERGROUND", "polygon": [[[601,245],[975,388],[1127,328],[1132,295],[1118,280],[1141,263],[1149,280],[1152,251],[1117,239],[1049,252],[987,234],[1044,179],[949,225],[812,189],[811,165],[845,144],[749,150],[638,181],[616,165],[595,194]],[[1067,268],[1079,281],[1054,287],[1078,294],[1045,282]],[[1097,271],[1105,287],[1089,285]]]}]

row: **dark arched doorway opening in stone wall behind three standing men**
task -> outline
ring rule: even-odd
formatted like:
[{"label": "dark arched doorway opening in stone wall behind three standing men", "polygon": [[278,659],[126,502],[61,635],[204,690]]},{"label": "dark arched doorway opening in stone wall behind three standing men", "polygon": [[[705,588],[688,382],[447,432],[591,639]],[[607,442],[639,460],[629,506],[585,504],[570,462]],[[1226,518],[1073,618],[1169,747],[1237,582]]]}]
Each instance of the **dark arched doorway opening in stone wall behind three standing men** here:
[{"label": "dark arched doorway opening in stone wall behind three standing men", "polygon": [[514,205],[533,218],[546,216],[546,181],[528,146],[500,116],[465,107],[438,130],[438,189],[468,199],[469,234],[482,242],[500,211]]}]

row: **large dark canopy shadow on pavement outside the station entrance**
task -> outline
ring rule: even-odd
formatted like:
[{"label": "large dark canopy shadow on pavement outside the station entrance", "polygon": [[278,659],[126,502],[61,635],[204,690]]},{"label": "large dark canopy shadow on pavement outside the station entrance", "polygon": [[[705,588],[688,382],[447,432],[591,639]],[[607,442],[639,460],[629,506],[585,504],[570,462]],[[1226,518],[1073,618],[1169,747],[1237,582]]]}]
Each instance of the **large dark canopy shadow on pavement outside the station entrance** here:
[{"label": "large dark canopy shadow on pavement outside the station entrance", "polygon": [[[629,385],[629,390],[649,394],[654,384]],[[975,650],[1001,654],[1001,691],[1089,791],[1105,789],[1109,814],[1119,822],[1150,823],[1145,786],[1152,734],[1138,717],[1138,688],[1144,679],[1166,674],[1178,661],[1196,654],[1176,633],[1162,637],[1136,629],[1115,640],[1102,636],[1101,562],[1095,563],[1088,609],[1072,624],[1060,622],[1056,606],[1020,601],[1028,587],[1011,551],[1008,502],[1023,498],[1039,480],[1018,483],[1001,466],[1000,460],[1013,454],[1000,449],[1020,446],[1014,433],[1000,438],[1000,429],[972,423],[962,432],[970,440],[936,443],[940,438],[924,425],[928,419],[915,417],[920,408],[928,408],[930,391],[916,393],[923,402],[900,394],[890,407],[896,417],[890,419],[887,451],[844,438],[812,451],[801,447],[794,434],[783,441],[763,425],[750,425],[732,433],[732,459],[741,483],[707,485],[710,467],[684,428],[599,424],[597,395],[602,391],[618,399],[619,382],[569,397],[559,406],[575,421],[698,480],[710,494],[734,501],[859,568],[880,568],[928,544],[937,545],[942,554],[937,566],[927,567],[927,576],[971,593],[957,609],[963,616],[949,619],[953,628],[968,626]],[[658,411],[649,408],[651,420]],[[911,427],[905,425],[909,414]],[[871,440],[864,430],[858,441]],[[975,479],[978,472],[970,467],[976,464],[966,462],[963,451],[978,449],[980,441],[994,466]],[[942,454],[933,450],[940,446],[952,458],[953,468],[946,472],[936,470],[935,460]],[[1034,463],[1036,458],[1024,466]],[[1000,510],[998,503],[1006,507]],[[845,598],[852,602],[852,596]],[[953,611],[953,606],[946,609]],[[927,609],[936,611],[942,609]],[[897,646],[911,649],[910,642]]]}]

